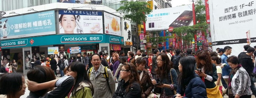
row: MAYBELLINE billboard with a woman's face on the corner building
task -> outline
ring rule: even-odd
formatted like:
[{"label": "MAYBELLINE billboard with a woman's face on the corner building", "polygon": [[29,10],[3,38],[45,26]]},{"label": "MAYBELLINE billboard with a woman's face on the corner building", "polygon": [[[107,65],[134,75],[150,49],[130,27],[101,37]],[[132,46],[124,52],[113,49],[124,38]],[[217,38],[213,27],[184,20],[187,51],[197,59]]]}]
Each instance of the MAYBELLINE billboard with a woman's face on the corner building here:
[{"label": "MAYBELLINE billboard with a woman's face on the corner building", "polygon": [[102,34],[102,12],[59,10],[59,25],[60,34]]}]

